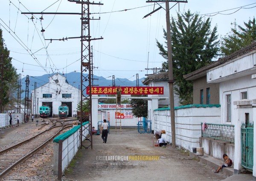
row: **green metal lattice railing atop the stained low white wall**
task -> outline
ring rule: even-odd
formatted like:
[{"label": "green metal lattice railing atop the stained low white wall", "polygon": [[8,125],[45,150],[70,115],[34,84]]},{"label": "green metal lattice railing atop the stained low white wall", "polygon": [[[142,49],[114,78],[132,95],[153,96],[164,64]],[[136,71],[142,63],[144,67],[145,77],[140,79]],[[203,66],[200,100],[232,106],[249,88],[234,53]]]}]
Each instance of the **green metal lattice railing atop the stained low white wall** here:
[{"label": "green metal lattice railing atop the stained low white wall", "polygon": [[202,137],[213,138],[222,141],[228,141],[230,143],[235,142],[235,126],[228,124],[212,124],[204,123],[206,126],[203,128],[201,123]]}]

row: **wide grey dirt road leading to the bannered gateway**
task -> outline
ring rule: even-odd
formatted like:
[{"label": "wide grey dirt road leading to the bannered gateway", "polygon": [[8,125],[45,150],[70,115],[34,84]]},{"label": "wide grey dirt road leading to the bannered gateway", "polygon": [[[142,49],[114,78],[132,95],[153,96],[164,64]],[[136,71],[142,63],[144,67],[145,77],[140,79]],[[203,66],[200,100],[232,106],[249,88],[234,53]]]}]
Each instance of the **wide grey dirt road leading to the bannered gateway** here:
[{"label": "wide grey dirt road leading to the bannered gateway", "polygon": [[[73,167],[67,169],[63,180],[220,181],[227,177],[213,173],[215,168],[201,164],[180,149],[169,145],[153,147],[152,137],[152,134],[138,133],[137,129],[122,129],[122,135],[115,134],[115,130],[111,129],[105,144],[101,135],[93,135],[93,149],[79,150]],[[118,156],[143,160],[122,161],[118,160]],[[153,157],[156,160],[149,160],[151,156],[156,156]]]}]

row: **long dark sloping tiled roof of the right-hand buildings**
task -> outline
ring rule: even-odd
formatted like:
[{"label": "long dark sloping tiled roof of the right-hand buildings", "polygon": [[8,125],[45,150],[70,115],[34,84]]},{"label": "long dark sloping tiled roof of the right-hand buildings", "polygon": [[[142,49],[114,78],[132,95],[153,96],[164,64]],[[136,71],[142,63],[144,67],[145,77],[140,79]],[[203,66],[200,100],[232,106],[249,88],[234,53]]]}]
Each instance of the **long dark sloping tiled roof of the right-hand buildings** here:
[{"label": "long dark sloping tiled roof of the right-hand buildings", "polygon": [[198,70],[196,70],[194,72],[191,72],[187,75],[183,75],[183,78],[185,78],[186,80],[193,80],[193,77],[200,77],[200,76],[198,76],[199,74],[200,75],[203,75],[203,74],[206,75],[207,70],[212,69],[212,68],[214,68],[218,65],[226,63],[226,62],[228,62],[230,60],[233,60],[237,57],[240,57],[242,55],[245,55],[249,52],[252,52],[253,50],[256,50],[256,42],[253,42],[250,45],[248,45],[248,46],[246,46],[246,47],[244,47],[244,48],[242,48],[242,49],[240,49],[240,50],[238,50],[238,51],[236,51],[236,52],[234,52],[230,55],[227,55],[226,57],[219,58],[217,61],[215,61],[215,62],[213,62],[213,63],[211,63],[207,66],[204,66],[201,69],[198,69]]}]

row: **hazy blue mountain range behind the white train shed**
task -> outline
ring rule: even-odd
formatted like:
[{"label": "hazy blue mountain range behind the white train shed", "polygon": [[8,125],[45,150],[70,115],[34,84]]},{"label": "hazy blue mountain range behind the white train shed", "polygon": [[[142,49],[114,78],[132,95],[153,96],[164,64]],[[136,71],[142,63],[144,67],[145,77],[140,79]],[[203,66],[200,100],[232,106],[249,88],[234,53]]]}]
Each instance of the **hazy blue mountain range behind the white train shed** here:
[{"label": "hazy blue mountain range behind the white train shed", "polygon": [[[61,73],[58,73],[61,74]],[[35,88],[35,82],[36,82],[36,87],[40,87],[46,83],[49,82],[49,77],[55,75],[55,74],[45,74],[41,76],[29,76],[29,93],[31,93],[32,90]],[[86,76],[88,74],[84,74]],[[81,85],[80,80],[81,80],[81,73],[80,72],[70,72],[68,74],[63,75],[64,77],[67,78],[68,83],[70,85],[75,86],[76,88]],[[98,77],[96,75],[93,76],[93,85],[95,86],[112,86],[112,80],[105,79],[103,77]],[[141,82],[145,78],[140,78],[139,79],[139,84],[140,86],[145,86]],[[24,92],[21,95],[21,98],[23,99],[25,97],[25,90],[26,90],[26,77],[21,80],[21,89],[24,90]],[[136,80],[128,80],[126,78],[115,78],[115,84],[116,86],[136,86]],[[30,95],[29,95],[30,97]]]}]

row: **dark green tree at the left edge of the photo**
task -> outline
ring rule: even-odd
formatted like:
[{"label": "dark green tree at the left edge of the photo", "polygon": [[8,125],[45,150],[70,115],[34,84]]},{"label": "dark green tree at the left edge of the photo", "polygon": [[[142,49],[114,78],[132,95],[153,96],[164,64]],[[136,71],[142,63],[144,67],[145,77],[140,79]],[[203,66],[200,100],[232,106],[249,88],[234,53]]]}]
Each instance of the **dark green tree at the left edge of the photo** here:
[{"label": "dark green tree at the left edge of the photo", "polygon": [[12,58],[9,57],[9,50],[7,49],[2,29],[0,29],[0,110],[8,104],[14,105],[17,101],[17,87],[18,75],[16,69],[12,66]]}]

